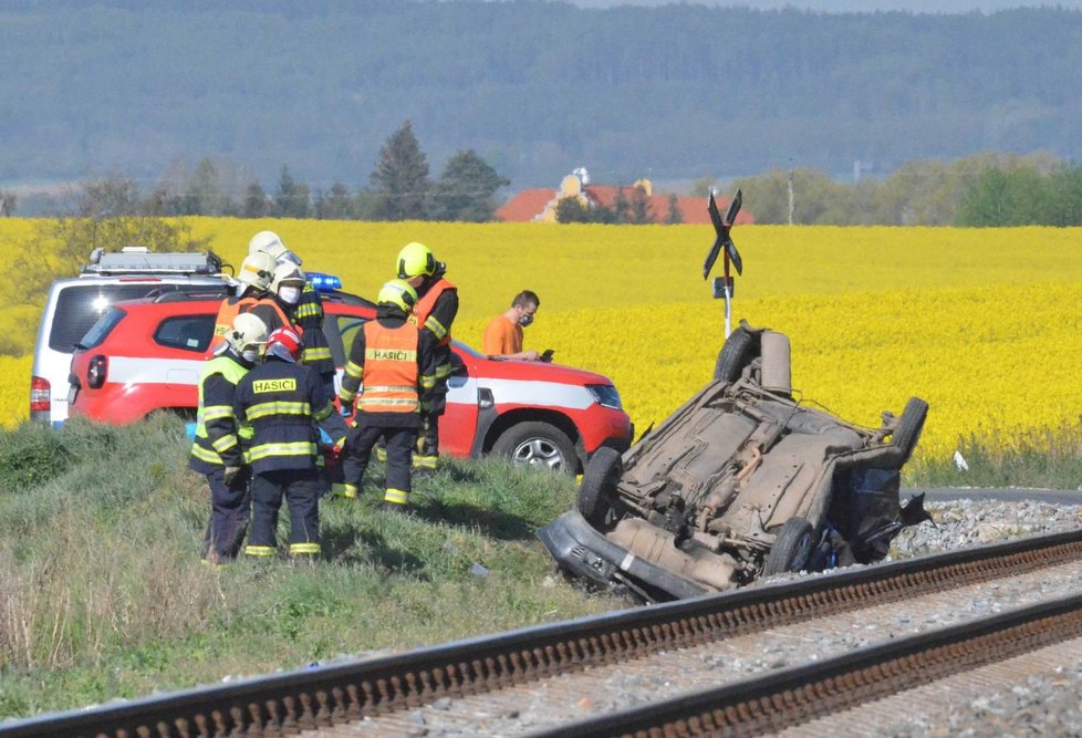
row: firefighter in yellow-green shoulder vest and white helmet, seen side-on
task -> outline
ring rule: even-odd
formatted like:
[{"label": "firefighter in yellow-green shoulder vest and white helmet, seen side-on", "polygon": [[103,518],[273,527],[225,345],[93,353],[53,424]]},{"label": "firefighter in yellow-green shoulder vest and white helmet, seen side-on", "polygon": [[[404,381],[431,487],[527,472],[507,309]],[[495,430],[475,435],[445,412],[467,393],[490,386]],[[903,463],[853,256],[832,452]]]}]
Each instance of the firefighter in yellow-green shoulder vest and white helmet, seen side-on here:
[{"label": "firefighter in yellow-green shoulder vest and white helmet, seen side-on", "polygon": [[262,321],[251,313],[237,315],[199,380],[199,414],[188,465],[205,475],[210,486],[204,559],[211,563],[236,559],[248,529],[250,472],[245,466],[243,432],[233,415],[233,399],[238,383],[259,360],[266,341]]}]

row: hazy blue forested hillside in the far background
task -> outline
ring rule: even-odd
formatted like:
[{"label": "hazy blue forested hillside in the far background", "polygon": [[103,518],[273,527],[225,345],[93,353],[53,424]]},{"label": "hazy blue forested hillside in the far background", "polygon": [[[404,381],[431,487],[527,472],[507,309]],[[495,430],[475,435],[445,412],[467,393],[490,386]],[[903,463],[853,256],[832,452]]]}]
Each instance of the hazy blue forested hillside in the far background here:
[{"label": "hazy blue forested hillside in the far background", "polygon": [[[511,190],[772,169],[886,175],[979,152],[1082,152],[1082,12],[823,14],[520,0],[9,0],[0,187],[210,156],[368,185],[410,119],[435,169]],[[857,164],[859,163],[859,164]]]}]

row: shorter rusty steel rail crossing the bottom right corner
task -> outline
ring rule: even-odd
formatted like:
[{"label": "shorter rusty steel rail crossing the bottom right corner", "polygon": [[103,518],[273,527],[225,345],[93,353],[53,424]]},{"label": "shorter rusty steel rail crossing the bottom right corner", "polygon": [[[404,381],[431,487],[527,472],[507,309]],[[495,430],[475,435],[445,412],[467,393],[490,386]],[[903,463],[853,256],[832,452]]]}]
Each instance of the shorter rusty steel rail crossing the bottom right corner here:
[{"label": "shorter rusty steel rail crossing the bottom right corner", "polygon": [[1075,594],[531,736],[677,738],[773,734],[1078,637],[1082,637],[1082,595]]}]

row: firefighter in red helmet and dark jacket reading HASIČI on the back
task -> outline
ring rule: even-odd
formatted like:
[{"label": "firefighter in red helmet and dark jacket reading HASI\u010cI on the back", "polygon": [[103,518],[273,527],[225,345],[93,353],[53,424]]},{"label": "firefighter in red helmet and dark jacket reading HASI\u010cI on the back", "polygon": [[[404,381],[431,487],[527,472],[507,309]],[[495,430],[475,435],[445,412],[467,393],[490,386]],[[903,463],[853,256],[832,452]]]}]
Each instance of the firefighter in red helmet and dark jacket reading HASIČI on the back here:
[{"label": "firefighter in red helmet and dark jacket reading HASI\u010cI on the back", "polygon": [[250,424],[252,430],[252,529],[245,547],[249,557],[274,555],[283,498],[290,513],[290,554],[311,560],[320,553],[323,479],[318,468],[320,433],[315,424],[323,424],[340,444],[346,427],[335,415],[332,398],[324,393],[315,371],[296,363],[301,346],[302,339],[294,329],[273,331],[267,339],[263,363],[237,387],[237,420],[242,426]]}]

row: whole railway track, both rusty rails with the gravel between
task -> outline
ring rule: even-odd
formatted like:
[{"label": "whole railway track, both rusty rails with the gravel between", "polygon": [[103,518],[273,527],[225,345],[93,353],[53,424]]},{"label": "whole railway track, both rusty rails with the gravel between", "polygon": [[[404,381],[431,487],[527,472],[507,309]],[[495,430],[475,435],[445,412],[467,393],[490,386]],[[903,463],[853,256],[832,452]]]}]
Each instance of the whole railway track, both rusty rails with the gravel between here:
[{"label": "whole railway track, both rusty rails with the gravel between", "polygon": [[[1029,644],[1027,647],[1082,637],[1079,625],[1082,616],[1075,612],[1082,612],[1082,599],[1041,591],[1045,573],[1051,570],[1065,572],[1068,581],[1075,578],[1073,589],[1078,591],[1076,584],[1082,582],[1082,531],[800,578],[364,662],[44,716],[4,727],[0,735],[131,738],[306,731],[313,735],[455,731],[507,735],[549,730],[551,735],[569,736],[649,736],[696,735],[699,728],[752,734],[774,731],[812,716],[826,715],[829,710],[816,707],[812,700],[820,693],[825,695],[825,704],[833,706],[831,709],[847,708],[889,694],[884,685],[912,684],[914,679],[929,678],[929,673],[945,675],[949,669],[943,664],[971,663],[967,661],[969,656],[963,658],[955,652],[943,652],[955,655],[943,656],[936,662],[939,666],[923,676],[915,672],[894,682],[878,680],[865,686],[872,685],[870,675],[895,673],[894,666],[884,664],[927,663],[925,656],[899,651],[904,644],[905,647],[948,648],[953,647],[948,643],[950,638],[959,634],[979,632],[982,637],[991,637],[997,628],[1015,634],[1006,636],[1008,642]],[[862,623],[887,622],[876,620],[885,615],[897,617],[902,613],[901,617],[912,623],[929,609],[949,613],[957,610],[958,602],[971,601],[974,592],[1005,586],[1010,590],[1006,600],[1012,605],[1024,604],[1030,595],[1038,601],[1017,613],[996,613],[979,624],[957,623],[947,628],[929,625],[926,633],[895,637],[888,643],[880,643],[880,636],[893,637],[895,633],[860,632]],[[1055,604],[1049,604],[1050,599]],[[929,622],[934,620],[938,616]],[[1054,627],[1049,625],[1053,622]],[[1000,627],[1000,623],[1007,625]],[[768,636],[814,647],[818,636],[809,637],[809,634],[839,630],[847,633],[840,642],[840,655],[813,653],[811,658],[820,657],[820,661],[808,664],[807,655],[779,657],[776,651],[773,657],[780,658],[780,663],[762,665],[771,669],[768,677],[734,682],[734,664],[772,658],[771,646],[763,645]],[[991,651],[1003,657],[1023,653],[1017,645],[992,648],[989,643],[968,646],[966,653]],[[870,661],[873,658],[886,661]],[[701,667],[698,676],[688,669],[688,663]],[[719,676],[725,671],[722,667],[728,671]],[[841,671],[829,674],[814,671],[823,667],[850,668],[855,676],[843,676]],[[767,688],[777,685],[782,676],[783,684],[789,686],[777,694],[752,689],[757,684]],[[670,695],[701,689],[704,684],[717,685],[721,678],[726,684],[720,693],[715,688],[666,701]],[[559,727],[592,707],[606,708],[607,705],[597,703],[604,703],[604,689],[613,679],[623,679],[625,687],[642,682],[644,694],[655,704]],[[809,682],[798,686],[790,679]],[[551,698],[552,704],[545,704],[544,698]],[[672,711],[675,704],[682,705],[680,709],[695,707],[691,714],[676,715]],[[722,706],[721,713],[717,713],[718,705]],[[780,707],[768,715],[763,706],[776,705]],[[544,717],[524,725],[519,720],[523,710],[540,711]],[[752,723],[738,725],[734,716],[743,714],[752,716]],[[644,717],[647,715],[653,717]],[[622,727],[612,723],[616,718],[634,723]],[[647,726],[644,719],[653,720],[654,725]]]}]

